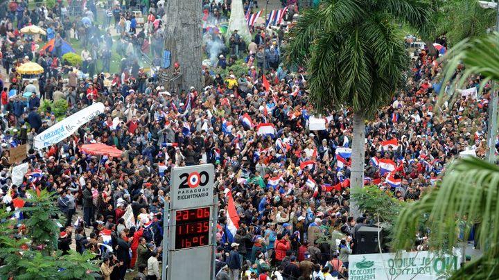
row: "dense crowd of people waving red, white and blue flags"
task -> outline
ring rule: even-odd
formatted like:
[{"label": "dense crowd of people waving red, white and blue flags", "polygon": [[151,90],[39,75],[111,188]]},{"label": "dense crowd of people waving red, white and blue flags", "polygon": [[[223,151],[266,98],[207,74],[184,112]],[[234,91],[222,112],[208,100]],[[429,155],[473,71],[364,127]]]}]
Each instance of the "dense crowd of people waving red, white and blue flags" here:
[{"label": "dense crowd of people waving red, white and blue flags", "polygon": [[[358,247],[356,233],[371,223],[369,216],[351,216],[349,208],[352,112],[348,107],[328,112],[324,127],[310,130],[315,118],[306,69],[281,64],[288,21],[278,30],[254,28],[247,45],[237,33],[227,36],[226,44],[220,33],[207,31],[205,51],[216,60],[200,71],[204,87],[169,92],[160,59],[164,1],[123,3],[106,6],[104,24],[98,26],[92,23],[97,12],[91,0],[84,15],[74,16],[78,9],[59,2],[52,9],[44,4],[29,9],[27,1],[10,1],[0,22],[0,54],[8,73],[0,80],[0,205],[10,203],[8,193],[25,198],[26,189],[57,192],[66,217],[60,250],[74,245],[78,252],[100,254],[103,279],[132,273],[135,279],[159,279],[171,168],[214,164],[220,205],[216,279],[346,278],[349,254]],[[216,24],[227,17],[229,4],[204,1],[207,20]],[[132,7],[143,11],[145,28],[137,28]],[[19,33],[40,21],[46,40],[78,37],[81,65],[64,65],[58,45],[53,52],[35,51],[39,42]],[[217,40],[229,47],[211,48]],[[107,75],[115,51],[123,58],[120,69]],[[141,53],[153,58],[152,74],[144,71]],[[231,66],[240,58],[244,71],[234,73]],[[44,67],[38,87],[16,71],[27,61]],[[482,96],[437,103],[440,92],[446,97],[452,86],[442,85],[442,76],[435,56],[427,50],[414,53],[406,87],[366,125],[365,184],[399,200],[418,200],[462,152],[484,157],[488,88]],[[469,88],[479,85],[479,76],[469,81]],[[26,92],[31,93],[27,98]],[[67,116],[97,102],[105,112],[39,151],[33,139],[58,121],[51,107],[40,109],[40,100],[66,100]],[[8,170],[19,163],[10,161],[9,150],[21,143],[27,144],[28,173],[42,175],[37,180],[26,175],[14,185]],[[79,147],[87,143],[115,146],[123,156],[85,155]],[[227,191],[240,218],[234,236],[227,229]],[[137,221],[133,227],[123,218],[129,205]],[[331,244],[327,236],[338,234],[338,243]]]}]

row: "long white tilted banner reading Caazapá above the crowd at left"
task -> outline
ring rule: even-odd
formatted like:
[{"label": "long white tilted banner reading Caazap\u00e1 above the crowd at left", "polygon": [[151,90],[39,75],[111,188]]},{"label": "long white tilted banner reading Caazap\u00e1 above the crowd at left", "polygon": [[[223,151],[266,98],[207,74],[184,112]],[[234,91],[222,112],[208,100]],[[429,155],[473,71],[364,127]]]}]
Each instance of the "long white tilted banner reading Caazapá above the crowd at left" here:
[{"label": "long white tilted banner reading Caazap\u00e1 above the crowd at left", "polygon": [[100,102],[86,107],[85,109],[68,116],[66,119],[55,123],[55,125],[52,125],[48,130],[38,134],[33,142],[33,147],[42,149],[49,147],[52,144],[59,143],[76,132],[80,126],[88,123],[91,119],[94,119],[95,116],[98,116],[103,112],[104,104]]}]

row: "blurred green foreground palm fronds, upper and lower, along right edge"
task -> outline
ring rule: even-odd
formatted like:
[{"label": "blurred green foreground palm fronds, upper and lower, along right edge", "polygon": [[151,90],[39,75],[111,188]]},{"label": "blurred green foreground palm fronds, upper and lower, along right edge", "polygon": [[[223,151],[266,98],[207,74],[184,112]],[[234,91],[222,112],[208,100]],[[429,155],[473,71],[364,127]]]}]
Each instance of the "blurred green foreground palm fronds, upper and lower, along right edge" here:
[{"label": "blurred green foreground palm fronds, upper and lower, along right edge", "polygon": [[[480,73],[480,89],[499,80],[499,34],[464,40],[449,51],[444,83],[455,75],[458,64],[466,69],[455,78],[455,89]],[[499,166],[476,158],[455,161],[437,189],[409,204],[396,222],[394,247],[408,249],[421,221],[428,220],[432,250],[448,251],[459,242],[457,223],[464,225],[463,239],[471,226],[478,232],[484,254],[453,274],[453,279],[499,279]]]}]

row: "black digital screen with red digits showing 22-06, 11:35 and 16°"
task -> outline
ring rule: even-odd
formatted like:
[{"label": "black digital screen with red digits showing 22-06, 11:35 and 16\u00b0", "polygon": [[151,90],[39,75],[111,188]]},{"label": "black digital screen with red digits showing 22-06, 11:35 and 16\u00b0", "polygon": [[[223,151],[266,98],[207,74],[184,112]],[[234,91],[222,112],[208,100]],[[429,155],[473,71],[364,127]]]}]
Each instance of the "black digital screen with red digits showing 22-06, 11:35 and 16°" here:
[{"label": "black digital screen with red digits showing 22-06, 11:35 and 16\u00b0", "polygon": [[175,250],[209,245],[209,207],[178,210],[175,220]]}]

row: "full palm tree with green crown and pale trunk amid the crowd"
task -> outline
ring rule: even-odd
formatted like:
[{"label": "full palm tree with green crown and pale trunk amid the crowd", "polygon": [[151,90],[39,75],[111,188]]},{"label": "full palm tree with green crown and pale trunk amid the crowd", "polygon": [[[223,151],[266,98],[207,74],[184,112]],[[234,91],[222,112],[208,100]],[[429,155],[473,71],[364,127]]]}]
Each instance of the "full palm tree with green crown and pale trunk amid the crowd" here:
[{"label": "full palm tree with green crown and pale trunk amid the crowd", "polygon": [[315,110],[353,108],[352,188],[364,185],[365,120],[405,83],[410,59],[394,22],[424,31],[427,8],[424,0],[324,0],[290,30],[285,59],[306,66]]}]

